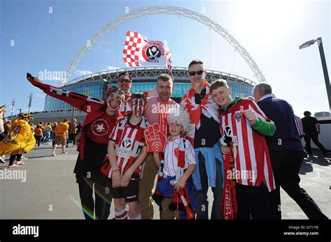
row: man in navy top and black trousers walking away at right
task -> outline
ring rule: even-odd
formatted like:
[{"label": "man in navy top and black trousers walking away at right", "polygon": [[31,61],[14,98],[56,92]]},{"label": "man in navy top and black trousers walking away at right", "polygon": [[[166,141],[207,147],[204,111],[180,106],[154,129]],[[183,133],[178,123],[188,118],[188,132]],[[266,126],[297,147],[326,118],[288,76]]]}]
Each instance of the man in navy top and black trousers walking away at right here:
[{"label": "man in navy top and black trousers walking away at right", "polygon": [[299,185],[304,149],[297,133],[291,105],[286,100],[275,98],[271,86],[267,83],[257,84],[253,96],[260,109],[276,125],[274,135],[265,137],[276,181],[276,189],[270,192],[269,197],[270,218],[281,219],[281,186],[309,219],[328,219]]}]

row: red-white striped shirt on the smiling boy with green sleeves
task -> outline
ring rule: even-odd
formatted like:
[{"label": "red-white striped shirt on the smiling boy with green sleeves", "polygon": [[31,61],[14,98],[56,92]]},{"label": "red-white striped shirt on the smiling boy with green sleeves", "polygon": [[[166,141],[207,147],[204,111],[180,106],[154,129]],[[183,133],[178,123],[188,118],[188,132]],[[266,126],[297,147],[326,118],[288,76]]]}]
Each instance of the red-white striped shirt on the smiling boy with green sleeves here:
[{"label": "red-white striped shirt on the smiling boy with green sleeves", "polygon": [[226,130],[228,136],[233,137],[235,179],[237,183],[246,186],[260,186],[262,181],[269,191],[274,190],[274,174],[265,137],[254,130],[241,114],[240,111],[246,109],[253,110],[256,117],[270,121],[260,107],[249,99],[240,100],[229,107],[226,113],[221,113],[221,135],[223,137]]}]

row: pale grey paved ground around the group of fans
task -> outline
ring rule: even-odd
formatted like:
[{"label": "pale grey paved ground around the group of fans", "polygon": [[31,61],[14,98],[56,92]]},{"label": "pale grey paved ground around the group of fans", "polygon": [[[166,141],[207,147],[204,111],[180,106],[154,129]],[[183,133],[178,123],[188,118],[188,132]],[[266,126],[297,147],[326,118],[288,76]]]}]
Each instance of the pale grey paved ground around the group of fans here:
[{"label": "pale grey paved ground around the group of fans", "polygon": [[[73,167],[78,153],[75,147],[68,148],[68,154],[52,157],[50,145],[33,149],[26,156],[25,165],[20,170],[26,181],[3,179],[0,181],[0,219],[82,219],[78,186],[75,183]],[[317,155],[318,151],[315,152]],[[8,165],[0,163],[0,172]],[[9,169],[7,169],[8,171]],[[10,169],[11,171],[14,169]],[[331,218],[331,158],[313,156],[300,169],[301,186]],[[23,177],[24,178],[24,177]],[[211,190],[209,190],[212,197]],[[300,207],[281,191],[284,219],[307,219]],[[209,203],[211,204],[211,203]],[[158,206],[154,208],[154,218],[159,218]],[[209,209],[210,211],[210,209]],[[112,207],[110,218],[114,218]]]}]

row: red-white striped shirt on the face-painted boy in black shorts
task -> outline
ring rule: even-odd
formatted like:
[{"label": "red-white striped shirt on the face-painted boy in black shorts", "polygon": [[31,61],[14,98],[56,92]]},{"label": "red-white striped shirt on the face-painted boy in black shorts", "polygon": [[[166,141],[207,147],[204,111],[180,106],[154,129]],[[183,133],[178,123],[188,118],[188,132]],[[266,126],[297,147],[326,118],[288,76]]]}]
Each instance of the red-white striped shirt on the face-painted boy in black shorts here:
[{"label": "red-white striped shirt on the face-painted boy in black shorts", "polygon": [[[133,165],[135,159],[140,155],[142,147],[146,145],[144,131],[149,125],[144,116],[142,116],[142,121],[135,126],[128,122],[129,118],[129,116],[125,116],[123,119],[119,119],[109,137],[115,142],[117,165],[122,175]],[[135,169],[135,173],[140,174],[140,167]],[[110,169],[108,177],[111,178],[111,174],[112,169]]]}]

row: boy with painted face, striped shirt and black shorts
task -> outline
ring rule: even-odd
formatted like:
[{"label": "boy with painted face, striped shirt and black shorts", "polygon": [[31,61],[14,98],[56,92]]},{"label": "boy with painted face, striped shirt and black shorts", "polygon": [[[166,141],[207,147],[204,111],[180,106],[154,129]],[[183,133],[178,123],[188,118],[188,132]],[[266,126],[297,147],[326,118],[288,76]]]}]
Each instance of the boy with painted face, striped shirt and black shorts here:
[{"label": "boy with painted face, striped shirt and black shorts", "polygon": [[110,135],[108,157],[111,166],[108,177],[111,179],[115,218],[138,220],[141,219],[138,204],[140,165],[147,155],[144,131],[149,123],[142,116],[147,108],[147,98],[143,93],[133,93],[130,105],[131,115],[119,119]]}]

